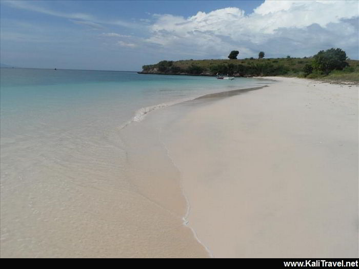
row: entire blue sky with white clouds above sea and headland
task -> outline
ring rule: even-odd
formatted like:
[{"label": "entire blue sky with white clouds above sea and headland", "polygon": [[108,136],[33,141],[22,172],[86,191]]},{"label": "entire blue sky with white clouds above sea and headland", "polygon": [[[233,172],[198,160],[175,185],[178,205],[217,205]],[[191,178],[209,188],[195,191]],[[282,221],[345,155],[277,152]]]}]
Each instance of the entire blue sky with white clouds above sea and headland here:
[{"label": "entire blue sky with white clouds above sea and headland", "polygon": [[0,61],[141,71],[161,60],[359,58],[359,1],[0,1]]}]

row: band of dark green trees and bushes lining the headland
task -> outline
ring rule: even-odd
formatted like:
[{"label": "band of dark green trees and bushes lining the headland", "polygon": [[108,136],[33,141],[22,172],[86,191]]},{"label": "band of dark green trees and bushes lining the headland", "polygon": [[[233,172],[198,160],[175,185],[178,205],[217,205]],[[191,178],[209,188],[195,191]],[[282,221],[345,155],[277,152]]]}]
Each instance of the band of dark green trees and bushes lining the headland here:
[{"label": "band of dark green trees and bushes lining the headland", "polygon": [[328,75],[333,70],[348,69],[346,53],[339,48],[331,48],[326,51],[321,50],[310,58],[304,57],[298,59],[288,55],[286,58],[263,59],[265,53],[261,51],[258,53],[258,59],[262,60],[255,60],[251,57],[241,61],[232,61],[232,59],[237,59],[238,54],[239,51],[231,51],[228,56],[230,61],[227,63],[218,61],[217,63],[219,64],[216,64],[214,61],[214,63],[207,64],[207,66],[196,62],[197,64],[191,63],[185,67],[180,67],[173,61],[163,60],[156,65],[143,66],[143,71],[195,75],[215,75],[220,73],[235,76],[276,76],[291,73],[311,78]]}]

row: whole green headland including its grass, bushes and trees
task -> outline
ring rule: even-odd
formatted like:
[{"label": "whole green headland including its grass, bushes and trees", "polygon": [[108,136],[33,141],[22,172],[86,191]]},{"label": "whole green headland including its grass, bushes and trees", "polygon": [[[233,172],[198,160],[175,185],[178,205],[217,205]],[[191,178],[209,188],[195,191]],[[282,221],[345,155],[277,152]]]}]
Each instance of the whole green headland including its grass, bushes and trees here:
[{"label": "whole green headland including its grass, bushes and trees", "polygon": [[320,51],[313,57],[304,58],[289,55],[286,58],[263,57],[264,52],[258,54],[258,59],[163,60],[155,65],[143,66],[143,73],[207,76],[220,73],[244,77],[280,75],[359,82],[359,61],[348,59],[341,49]]}]

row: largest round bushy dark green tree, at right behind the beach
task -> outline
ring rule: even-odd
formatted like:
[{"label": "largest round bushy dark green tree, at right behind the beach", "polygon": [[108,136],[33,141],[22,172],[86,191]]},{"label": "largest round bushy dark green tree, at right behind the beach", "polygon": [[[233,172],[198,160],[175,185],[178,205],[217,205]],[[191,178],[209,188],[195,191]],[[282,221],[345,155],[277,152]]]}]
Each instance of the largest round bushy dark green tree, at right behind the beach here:
[{"label": "largest round bushy dark green tree, at right behind the beach", "polygon": [[313,56],[313,69],[328,75],[332,70],[343,70],[348,63],[345,61],[347,54],[342,49],[331,48],[321,50]]}]

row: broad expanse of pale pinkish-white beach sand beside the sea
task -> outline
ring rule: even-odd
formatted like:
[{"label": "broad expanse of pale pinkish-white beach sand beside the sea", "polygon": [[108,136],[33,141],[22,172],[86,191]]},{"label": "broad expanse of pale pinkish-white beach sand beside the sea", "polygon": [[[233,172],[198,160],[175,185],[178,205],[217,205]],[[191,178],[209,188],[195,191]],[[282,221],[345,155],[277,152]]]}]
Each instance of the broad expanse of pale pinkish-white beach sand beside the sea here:
[{"label": "broad expanse of pale pinkish-white beach sand beside the sea", "polygon": [[189,226],[218,258],[358,257],[358,87],[273,79],[162,131]]}]

